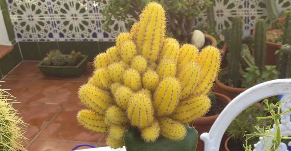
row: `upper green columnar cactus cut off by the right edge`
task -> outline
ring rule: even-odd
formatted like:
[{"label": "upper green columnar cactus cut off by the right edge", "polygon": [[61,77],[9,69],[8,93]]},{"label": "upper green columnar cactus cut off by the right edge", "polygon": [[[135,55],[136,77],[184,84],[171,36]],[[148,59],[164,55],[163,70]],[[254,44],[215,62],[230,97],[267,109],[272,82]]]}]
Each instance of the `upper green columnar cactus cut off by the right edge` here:
[{"label": "upper green columnar cactus cut off by the right edge", "polygon": [[291,45],[291,11],[287,13],[286,18],[285,18],[282,44]]}]

